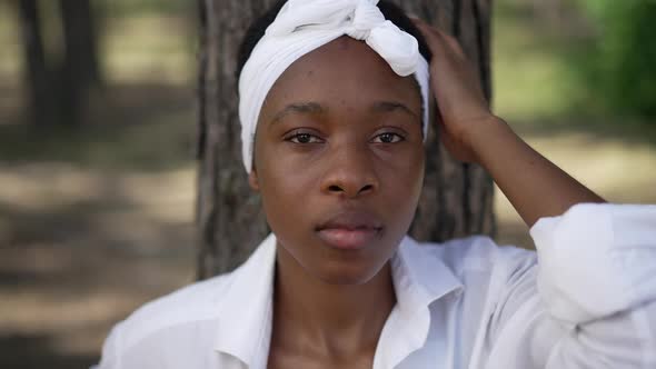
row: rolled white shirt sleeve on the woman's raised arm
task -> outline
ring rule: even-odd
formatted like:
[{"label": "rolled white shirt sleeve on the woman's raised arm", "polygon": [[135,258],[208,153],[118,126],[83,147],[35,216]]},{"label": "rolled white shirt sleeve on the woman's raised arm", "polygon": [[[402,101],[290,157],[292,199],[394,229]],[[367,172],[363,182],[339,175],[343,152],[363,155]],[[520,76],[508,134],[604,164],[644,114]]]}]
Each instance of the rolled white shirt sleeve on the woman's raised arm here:
[{"label": "rolled white shirt sleeve on the woman's raised arm", "polygon": [[530,235],[485,367],[656,368],[656,206],[577,205]]}]

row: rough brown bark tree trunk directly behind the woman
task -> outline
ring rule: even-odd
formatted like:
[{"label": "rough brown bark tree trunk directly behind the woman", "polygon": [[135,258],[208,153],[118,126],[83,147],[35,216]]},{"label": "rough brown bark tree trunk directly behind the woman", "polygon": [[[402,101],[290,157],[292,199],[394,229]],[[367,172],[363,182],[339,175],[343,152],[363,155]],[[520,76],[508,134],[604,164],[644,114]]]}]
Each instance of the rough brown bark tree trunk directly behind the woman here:
[{"label": "rough brown bark tree trunk directly behind the woman", "polygon": [[[259,198],[249,190],[241,164],[235,69],[246,27],[274,2],[199,0],[199,279],[233,269],[268,231]],[[460,40],[490,99],[490,0],[395,2]],[[430,241],[494,235],[490,177],[478,166],[454,160],[433,129],[426,150],[426,180],[410,235]]]}]

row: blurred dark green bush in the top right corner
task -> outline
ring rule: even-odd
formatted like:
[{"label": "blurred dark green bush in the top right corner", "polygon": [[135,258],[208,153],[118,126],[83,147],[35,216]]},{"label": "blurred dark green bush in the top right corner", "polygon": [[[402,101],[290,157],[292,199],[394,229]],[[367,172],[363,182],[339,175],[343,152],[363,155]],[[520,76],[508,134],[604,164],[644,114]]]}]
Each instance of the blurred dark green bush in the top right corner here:
[{"label": "blurred dark green bush in the top right corner", "polygon": [[582,59],[597,104],[656,117],[656,1],[580,0],[597,34]]}]

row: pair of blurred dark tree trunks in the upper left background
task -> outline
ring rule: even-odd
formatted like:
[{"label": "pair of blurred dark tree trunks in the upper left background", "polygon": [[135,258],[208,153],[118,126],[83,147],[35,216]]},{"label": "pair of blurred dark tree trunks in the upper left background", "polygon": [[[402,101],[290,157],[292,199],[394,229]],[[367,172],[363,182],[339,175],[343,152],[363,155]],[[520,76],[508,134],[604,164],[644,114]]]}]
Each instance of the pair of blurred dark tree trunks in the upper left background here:
[{"label": "pair of blurred dark tree trunks in the upper left background", "polygon": [[23,37],[29,119],[36,126],[79,126],[86,94],[101,81],[98,63],[96,13],[90,1],[59,0],[60,50],[44,44],[46,16],[51,3],[19,0]]}]

